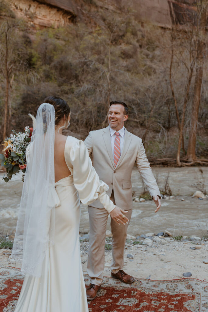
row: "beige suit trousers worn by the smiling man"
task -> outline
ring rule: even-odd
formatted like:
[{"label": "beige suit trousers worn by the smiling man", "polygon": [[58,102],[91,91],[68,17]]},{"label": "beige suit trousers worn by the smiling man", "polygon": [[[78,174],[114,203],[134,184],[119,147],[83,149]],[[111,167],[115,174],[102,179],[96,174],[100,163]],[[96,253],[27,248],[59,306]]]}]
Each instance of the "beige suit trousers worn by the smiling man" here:
[{"label": "beige suit trousers worn by the smiling man", "polygon": [[[114,194],[111,198],[114,202]],[[101,285],[104,271],[105,256],[105,232],[109,213],[105,208],[88,206],[89,212],[89,251],[87,259],[87,272],[91,284]],[[125,213],[131,219],[132,209]],[[117,273],[123,268],[124,248],[128,225],[118,224],[111,218],[110,222],[112,237],[112,262],[111,272]]]}]

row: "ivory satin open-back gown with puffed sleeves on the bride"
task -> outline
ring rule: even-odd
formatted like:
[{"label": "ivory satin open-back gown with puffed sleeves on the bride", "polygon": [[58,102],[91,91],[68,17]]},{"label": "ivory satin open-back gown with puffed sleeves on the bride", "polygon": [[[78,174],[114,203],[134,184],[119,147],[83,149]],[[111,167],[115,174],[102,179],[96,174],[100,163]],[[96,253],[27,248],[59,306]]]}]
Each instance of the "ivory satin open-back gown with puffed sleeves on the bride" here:
[{"label": "ivory satin open-back gown with puffed sleeves on the bride", "polygon": [[[32,161],[29,146],[27,162]],[[41,277],[25,276],[15,312],[88,312],[80,258],[80,199],[87,205],[99,199],[108,212],[115,205],[83,141],[67,137],[65,161],[71,175],[56,182],[49,195],[56,203],[55,243],[47,248]]]}]

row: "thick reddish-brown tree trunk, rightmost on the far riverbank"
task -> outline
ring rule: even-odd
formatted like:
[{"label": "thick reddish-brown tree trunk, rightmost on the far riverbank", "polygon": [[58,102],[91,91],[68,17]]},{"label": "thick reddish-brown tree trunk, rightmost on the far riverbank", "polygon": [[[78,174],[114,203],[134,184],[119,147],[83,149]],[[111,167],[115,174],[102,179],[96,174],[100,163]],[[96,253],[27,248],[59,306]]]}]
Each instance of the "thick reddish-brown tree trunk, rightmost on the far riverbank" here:
[{"label": "thick reddish-brown tree trunk, rightmost on the far riverbank", "polygon": [[[203,4],[202,4],[203,5]],[[206,6],[202,8],[200,16],[200,28],[198,31],[198,43],[196,51],[196,76],[194,84],[194,98],[192,104],[192,114],[191,114],[191,128],[189,132],[189,141],[187,149],[187,159],[189,161],[194,161],[196,159],[196,132],[199,114],[199,105],[201,100],[201,84],[203,77],[203,61],[204,61],[204,50],[205,43],[204,37],[206,36]]]}]

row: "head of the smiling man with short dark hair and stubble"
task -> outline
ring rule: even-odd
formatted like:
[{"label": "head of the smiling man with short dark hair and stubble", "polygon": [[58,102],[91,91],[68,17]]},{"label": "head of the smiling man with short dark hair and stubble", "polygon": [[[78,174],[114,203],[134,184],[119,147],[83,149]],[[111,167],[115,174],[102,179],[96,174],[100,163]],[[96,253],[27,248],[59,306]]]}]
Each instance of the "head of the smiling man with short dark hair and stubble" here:
[{"label": "head of the smiling man with short dark hair and stubble", "polygon": [[123,128],[124,121],[128,119],[128,115],[125,115],[125,110],[122,104],[113,104],[109,108],[108,123],[114,130],[120,130]]}]

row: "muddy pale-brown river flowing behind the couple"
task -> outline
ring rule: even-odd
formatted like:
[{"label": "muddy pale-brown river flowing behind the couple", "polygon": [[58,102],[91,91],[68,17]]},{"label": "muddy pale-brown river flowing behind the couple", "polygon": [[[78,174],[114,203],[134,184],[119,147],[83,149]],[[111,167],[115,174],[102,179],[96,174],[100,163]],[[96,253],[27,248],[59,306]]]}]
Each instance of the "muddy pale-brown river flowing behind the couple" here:
[{"label": "muddy pale-brown river flowing behind the couple", "polygon": [[[208,193],[208,167],[190,168],[152,168],[161,191],[169,185],[173,198],[162,199],[159,212],[155,213],[153,201],[133,202],[132,219],[128,234],[139,235],[147,232],[168,230],[174,236],[208,234],[208,197],[200,200],[191,195],[200,190]],[[22,192],[21,176],[13,176],[8,183],[2,181],[0,174],[0,236],[14,235]],[[134,196],[143,192],[143,183],[136,168],[132,172]],[[184,201],[181,201],[181,198]],[[107,228],[110,229],[110,218]],[[81,205],[80,232],[88,232],[89,220],[87,207]]]}]

